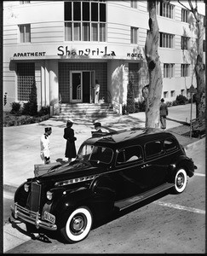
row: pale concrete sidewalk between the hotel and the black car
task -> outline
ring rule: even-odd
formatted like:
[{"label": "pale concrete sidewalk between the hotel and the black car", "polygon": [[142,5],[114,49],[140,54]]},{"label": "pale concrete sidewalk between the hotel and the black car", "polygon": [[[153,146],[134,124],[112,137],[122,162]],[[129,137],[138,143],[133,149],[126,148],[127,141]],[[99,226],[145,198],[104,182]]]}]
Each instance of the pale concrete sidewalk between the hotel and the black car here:
[{"label": "pale concrete sidewalk between the hotel and the black car", "polygon": [[[172,129],[183,122],[190,122],[191,104],[169,108],[167,129]],[[195,106],[193,105],[192,118],[195,118]],[[103,119],[73,119],[72,129],[77,137],[76,148],[84,140],[91,137],[94,131],[94,122],[100,121],[102,131],[126,131],[145,127],[145,113],[131,113],[129,115],[108,116]],[[63,138],[65,119],[51,118],[41,123],[31,125],[19,125],[3,127],[3,189],[15,190],[28,177],[34,177],[34,165],[41,164],[40,159],[40,137],[44,128],[52,127],[52,134],[49,137],[51,147],[51,162],[64,162],[66,140]],[[189,139],[181,135],[179,142],[187,150],[199,150],[204,139]]]}]

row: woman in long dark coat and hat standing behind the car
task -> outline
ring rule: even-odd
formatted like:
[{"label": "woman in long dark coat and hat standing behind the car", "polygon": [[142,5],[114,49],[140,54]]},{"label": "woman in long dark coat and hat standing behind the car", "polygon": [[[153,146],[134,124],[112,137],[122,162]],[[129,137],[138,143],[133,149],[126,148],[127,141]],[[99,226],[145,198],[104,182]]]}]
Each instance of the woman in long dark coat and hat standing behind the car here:
[{"label": "woman in long dark coat and hat standing behind the car", "polygon": [[77,140],[74,137],[74,130],[72,129],[72,120],[69,119],[66,122],[66,128],[64,129],[64,136],[66,139],[66,154],[65,156],[68,158],[69,163],[72,161],[72,158],[76,158],[76,146],[75,141]]}]

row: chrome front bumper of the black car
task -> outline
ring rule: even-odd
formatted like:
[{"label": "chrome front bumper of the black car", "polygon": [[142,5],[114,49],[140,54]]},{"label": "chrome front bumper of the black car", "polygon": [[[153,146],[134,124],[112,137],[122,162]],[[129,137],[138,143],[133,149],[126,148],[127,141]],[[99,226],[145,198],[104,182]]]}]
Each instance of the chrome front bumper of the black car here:
[{"label": "chrome front bumper of the black car", "polygon": [[41,220],[39,212],[32,212],[24,207],[20,207],[17,203],[14,203],[14,207],[11,206],[11,212],[14,214],[15,219],[20,219],[25,223],[34,224],[37,229],[57,230],[56,224],[50,224],[47,221]]}]

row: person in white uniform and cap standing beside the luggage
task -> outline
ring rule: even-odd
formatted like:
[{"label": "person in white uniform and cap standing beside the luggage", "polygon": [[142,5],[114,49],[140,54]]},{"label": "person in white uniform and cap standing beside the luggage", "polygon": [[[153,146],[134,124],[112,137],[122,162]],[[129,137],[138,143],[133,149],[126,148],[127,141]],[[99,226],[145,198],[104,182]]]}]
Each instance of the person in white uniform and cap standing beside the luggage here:
[{"label": "person in white uniform and cap standing beside the luggage", "polygon": [[40,157],[43,160],[44,164],[50,163],[50,144],[49,136],[52,133],[51,127],[46,127],[44,129],[44,134],[40,138]]}]

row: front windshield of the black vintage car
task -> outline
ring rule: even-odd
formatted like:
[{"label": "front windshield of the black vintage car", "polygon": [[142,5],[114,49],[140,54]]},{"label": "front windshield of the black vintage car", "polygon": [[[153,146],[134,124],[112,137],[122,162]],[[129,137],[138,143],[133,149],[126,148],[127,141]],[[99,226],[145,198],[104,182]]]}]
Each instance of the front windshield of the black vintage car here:
[{"label": "front windshield of the black vintage car", "polygon": [[112,149],[84,144],[78,152],[79,160],[95,161],[109,164],[112,161]]}]

